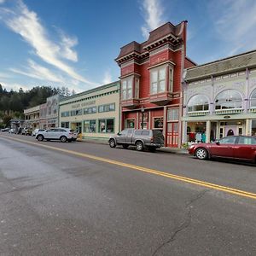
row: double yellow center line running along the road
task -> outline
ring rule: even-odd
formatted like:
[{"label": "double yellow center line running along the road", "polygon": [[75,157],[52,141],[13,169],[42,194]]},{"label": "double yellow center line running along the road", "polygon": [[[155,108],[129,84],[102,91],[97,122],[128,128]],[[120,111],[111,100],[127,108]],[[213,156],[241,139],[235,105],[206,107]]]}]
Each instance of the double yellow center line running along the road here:
[{"label": "double yellow center line running along the road", "polygon": [[135,166],[135,165],[131,165],[131,164],[126,164],[126,163],[123,163],[123,162],[120,162],[120,161],[110,160],[110,159],[103,158],[103,157],[100,157],[100,156],[96,156],[96,155],[93,155],[93,154],[84,154],[84,153],[79,153],[79,152],[75,152],[75,151],[64,149],[64,148],[56,148],[56,147],[52,147],[52,146],[48,146],[48,145],[44,145],[44,144],[40,144],[40,143],[27,142],[27,141],[24,141],[24,140],[21,140],[21,139],[18,139],[18,138],[14,138],[14,137],[6,137],[6,136],[2,136],[2,135],[1,135],[1,137],[5,137],[5,138],[8,138],[10,140],[14,140],[14,141],[21,142],[21,143],[27,143],[27,144],[35,145],[35,146],[42,147],[42,148],[53,149],[53,150],[56,150],[56,151],[67,153],[67,154],[77,155],[77,156],[84,157],[84,158],[91,159],[91,160],[97,160],[97,161],[105,162],[105,163],[115,165],[115,166],[127,167],[127,168],[130,168],[130,169],[133,169],[133,170],[137,170],[139,172],[147,172],[147,173],[151,173],[151,174],[162,176],[162,177],[168,177],[168,178],[172,178],[172,179],[182,181],[182,182],[185,182],[185,183],[192,183],[192,184],[199,185],[201,187],[206,187],[206,188],[210,188],[210,189],[224,191],[224,192],[229,193],[229,194],[240,195],[240,196],[243,196],[243,197],[248,197],[248,198],[252,198],[252,199],[256,200],[256,194],[255,193],[247,192],[247,191],[240,190],[240,189],[225,187],[225,186],[218,185],[218,184],[215,184],[215,183],[207,183],[207,182],[204,182],[204,181],[201,181],[201,180],[197,180],[197,179],[193,179],[193,178],[189,178],[189,177],[178,176],[178,175],[175,175],[175,174],[172,174],[172,173],[162,172],[162,171],[146,168],[146,167],[143,167],[143,166]]}]

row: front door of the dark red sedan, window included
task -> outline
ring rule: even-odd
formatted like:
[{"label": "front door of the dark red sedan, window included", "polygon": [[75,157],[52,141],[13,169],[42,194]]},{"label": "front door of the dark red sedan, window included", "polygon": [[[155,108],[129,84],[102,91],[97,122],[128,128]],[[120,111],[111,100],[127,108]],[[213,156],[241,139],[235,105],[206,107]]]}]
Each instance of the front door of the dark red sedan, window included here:
[{"label": "front door of the dark red sedan, window included", "polygon": [[228,136],[220,139],[217,143],[211,145],[210,153],[212,156],[218,157],[234,157],[234,145],[236,143],[235,136]]}]

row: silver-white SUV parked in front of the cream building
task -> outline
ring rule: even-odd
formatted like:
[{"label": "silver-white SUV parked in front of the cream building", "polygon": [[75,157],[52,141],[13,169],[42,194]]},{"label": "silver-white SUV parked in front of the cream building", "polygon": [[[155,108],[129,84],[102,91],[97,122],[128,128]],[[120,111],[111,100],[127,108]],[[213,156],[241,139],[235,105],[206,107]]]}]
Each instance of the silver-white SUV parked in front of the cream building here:
[{"label": "silver-white SUV parked in front of the cream building", "polygon": [[38,131],[36,138],[39,142],[44,140],[60,140],[62,143],[76,141],[78,134],[72,129],[67,128],[51,128],[45,131]]}]

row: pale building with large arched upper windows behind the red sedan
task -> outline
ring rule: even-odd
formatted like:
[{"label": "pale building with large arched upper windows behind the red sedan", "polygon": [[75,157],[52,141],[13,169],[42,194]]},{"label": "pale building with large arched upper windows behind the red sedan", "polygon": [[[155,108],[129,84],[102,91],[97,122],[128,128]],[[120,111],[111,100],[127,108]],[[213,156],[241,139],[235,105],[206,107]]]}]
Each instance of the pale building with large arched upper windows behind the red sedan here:
[{"label": "pale building with large arched upper windows behind the red sedan", "polygon": [[190,67],[184,80],[183,143],[256,135],[256,50]]}]

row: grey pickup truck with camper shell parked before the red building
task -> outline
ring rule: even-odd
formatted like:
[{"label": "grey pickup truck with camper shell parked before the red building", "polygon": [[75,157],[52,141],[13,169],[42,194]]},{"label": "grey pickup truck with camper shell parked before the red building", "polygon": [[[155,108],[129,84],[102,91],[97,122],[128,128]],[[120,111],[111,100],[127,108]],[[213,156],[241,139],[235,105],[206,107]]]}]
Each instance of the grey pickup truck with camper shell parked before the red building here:
[{"label": "grey pickup truck with camper shell parked before the red building", "polygon": [[125,129],[116,136],[110,137],[108,143],[111,148],[117,145],[122,145],[123,148],[135,146],[137,151],[148,148],[154,152],[156,148],[164,146],[164,136],[161,131],[157,130]]}]

